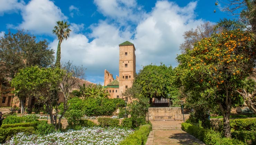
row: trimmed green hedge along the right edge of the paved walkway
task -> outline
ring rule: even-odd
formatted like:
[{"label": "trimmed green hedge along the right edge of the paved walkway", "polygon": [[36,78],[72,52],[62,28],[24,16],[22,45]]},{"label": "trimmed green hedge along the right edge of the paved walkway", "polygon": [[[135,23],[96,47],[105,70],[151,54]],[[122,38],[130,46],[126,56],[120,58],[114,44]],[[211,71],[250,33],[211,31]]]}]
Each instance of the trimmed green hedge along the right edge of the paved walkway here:
[{"label": "trimmed green hedge along the right edge of the paved walkway", "polygon": [[189,123],[182,123],[181,129],[200,139],[200,141],[207,145],[246,145],[245,143],[238,141],[238,139],[222,138],[220,133],[213,130],[203,129]]}]

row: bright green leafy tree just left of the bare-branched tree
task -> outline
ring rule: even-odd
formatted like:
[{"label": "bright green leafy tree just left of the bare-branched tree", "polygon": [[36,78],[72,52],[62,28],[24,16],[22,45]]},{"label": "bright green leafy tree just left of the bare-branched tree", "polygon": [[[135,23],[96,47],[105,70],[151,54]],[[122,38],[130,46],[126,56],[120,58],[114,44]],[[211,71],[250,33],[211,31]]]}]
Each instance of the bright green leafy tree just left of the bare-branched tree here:
[{"label": "bright green leafy tree just left of the bare-branched tree", "polygon": [[[56,98],[53,99],[53,90],[60,83],[62,75],[63,71],[60,69],[39,68],[38,66],[20,69],[11,80],[11,86],[15,88],[13,93],[20,99],[21,113],[24,113],[24,102],[28,97],[35,97],[38,102],[44,103],[50,112],[53,102],[56,102]],[[51,123],[53,123],[52,118]]]}]

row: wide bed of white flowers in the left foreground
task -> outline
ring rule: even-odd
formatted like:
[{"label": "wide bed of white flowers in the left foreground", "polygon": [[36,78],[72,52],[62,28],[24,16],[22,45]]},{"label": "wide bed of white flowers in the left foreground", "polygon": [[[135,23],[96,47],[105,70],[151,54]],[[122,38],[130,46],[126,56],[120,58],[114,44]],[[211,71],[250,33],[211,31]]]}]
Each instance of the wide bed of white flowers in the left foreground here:
[{"label": "wide bed of white flowers in the left foreground", "polygon": [[56,132],[45,136],[18,133],[4,145],[117,145],[133,132],[131,129],[117,127],[84,127],[78,131],[70,129],[67,132]]}]

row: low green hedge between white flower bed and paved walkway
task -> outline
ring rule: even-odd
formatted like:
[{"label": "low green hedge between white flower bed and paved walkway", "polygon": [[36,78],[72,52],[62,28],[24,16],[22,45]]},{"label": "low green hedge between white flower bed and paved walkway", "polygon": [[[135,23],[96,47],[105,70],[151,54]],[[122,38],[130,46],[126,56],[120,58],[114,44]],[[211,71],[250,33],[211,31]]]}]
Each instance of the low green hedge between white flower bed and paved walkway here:
[{"label": "low green hedge between white flower bed and paved walkway", "polygon": [[133,134],[121,141],[119,145],[145,145],[152,126],[149,124],[142,125]]}]

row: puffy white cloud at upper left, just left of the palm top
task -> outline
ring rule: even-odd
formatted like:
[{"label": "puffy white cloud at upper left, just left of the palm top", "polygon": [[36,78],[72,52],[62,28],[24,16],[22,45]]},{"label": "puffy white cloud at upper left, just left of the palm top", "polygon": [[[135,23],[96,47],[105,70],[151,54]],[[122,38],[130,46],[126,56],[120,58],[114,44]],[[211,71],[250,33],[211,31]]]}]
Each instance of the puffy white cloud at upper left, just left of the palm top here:
[{"label": "puffy white cloud at upper left, just left of the palm top", "polygon": [[22,23],[18,29],[27,29],[36,34],[50,34],[56,21],[66,20],[61,9],[49,0],[31,0],[21,12]]}]

